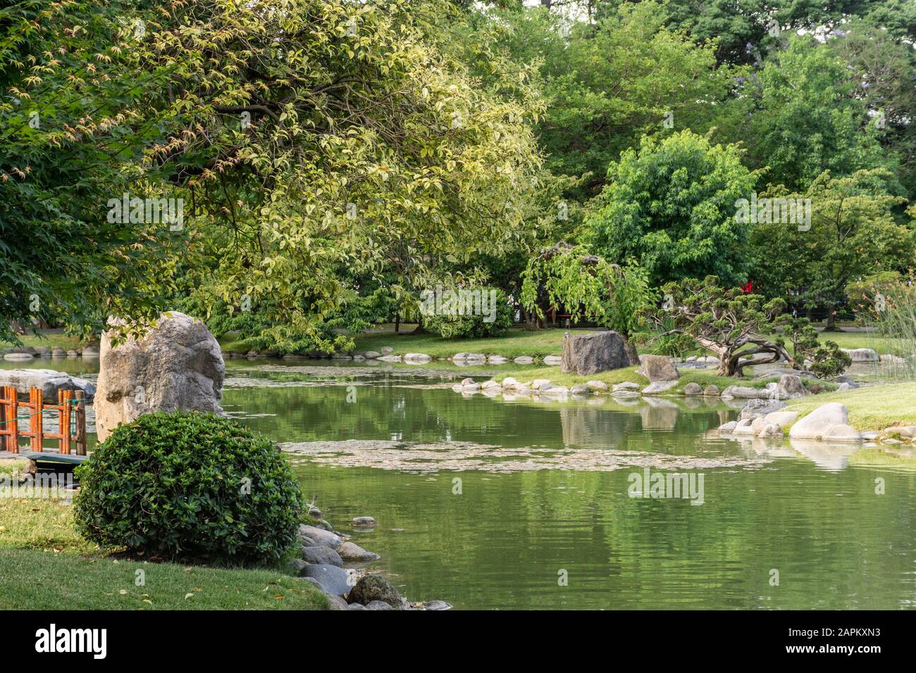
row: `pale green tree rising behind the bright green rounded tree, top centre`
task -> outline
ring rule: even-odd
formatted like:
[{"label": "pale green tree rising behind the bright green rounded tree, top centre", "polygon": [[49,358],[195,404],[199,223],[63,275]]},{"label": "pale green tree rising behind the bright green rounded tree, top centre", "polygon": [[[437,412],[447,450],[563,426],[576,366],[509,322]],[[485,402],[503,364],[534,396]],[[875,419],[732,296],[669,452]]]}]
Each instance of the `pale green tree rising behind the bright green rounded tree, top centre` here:
[{"label": "pale green tree rising behind the bright green rounded tree, top centre", "polygon": [[717,68],[714,44],[666,29],[654,2],[627,4],[594,24],[543,8],[496,16],[479,22],[475,36],[497,31],[492,43],[504,56],[485,52],[479,70],[507,55],[537,75],[533,85],[548,103],[537,125],[546,163],[554,174],[585,178],[569,194],[578,201],[605,185],[607,166],[641,136],[731,125],[729,94],[742,71]]}]

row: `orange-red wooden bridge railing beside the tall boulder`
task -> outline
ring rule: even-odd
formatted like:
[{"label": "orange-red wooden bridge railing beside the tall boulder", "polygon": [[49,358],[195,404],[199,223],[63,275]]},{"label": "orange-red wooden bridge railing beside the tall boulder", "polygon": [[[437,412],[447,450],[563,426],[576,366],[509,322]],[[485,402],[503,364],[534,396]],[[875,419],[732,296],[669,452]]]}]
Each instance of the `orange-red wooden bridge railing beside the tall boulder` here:
[{"label": "orange-red wooden bridge railing beside the tall boulder", "polygon": [[[19,416],[19,409],[30,413]],[[45,432],[43,413],[58,412],[58,431]],[[19,430],[18,421],[28,418],[28,429]],[[0,388],[0,450],[19,452],[19,438],[29,440],[33,451],[44,450],[45,440],[60,440],[60,453],[75,451],[86,455],[86,401],[82,390],[59,390],[58,403],[45,404],[40,388],[28,391],[28,401],[20,402],[16,388],[4,385]]]}]

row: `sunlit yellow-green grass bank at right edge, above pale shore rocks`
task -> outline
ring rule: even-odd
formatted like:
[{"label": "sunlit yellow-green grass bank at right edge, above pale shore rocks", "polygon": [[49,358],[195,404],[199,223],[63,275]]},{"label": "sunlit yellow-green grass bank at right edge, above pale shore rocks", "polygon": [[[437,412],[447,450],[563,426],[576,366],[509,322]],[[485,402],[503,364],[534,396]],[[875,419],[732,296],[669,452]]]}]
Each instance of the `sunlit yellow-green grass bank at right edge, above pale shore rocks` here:
[{"label": "sunlit yellow-green grass bank at right edge, above pale shore rocks", "polygon": [[880,430],[895,425],[916,425],[916,383],[873,385],[842,393],[825,393],[789,402],[801,415],[828,402],[841,402],[849,410],[849,425],[857,430]]}]

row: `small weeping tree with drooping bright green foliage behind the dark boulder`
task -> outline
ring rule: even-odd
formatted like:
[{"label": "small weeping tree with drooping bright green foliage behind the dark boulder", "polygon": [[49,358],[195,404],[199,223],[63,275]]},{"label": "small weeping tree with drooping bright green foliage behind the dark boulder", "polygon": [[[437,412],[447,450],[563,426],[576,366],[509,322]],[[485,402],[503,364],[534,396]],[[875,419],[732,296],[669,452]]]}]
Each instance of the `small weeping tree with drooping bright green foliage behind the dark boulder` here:
[{"label": "small weeping tree with drooping bright green foliage behind the dark boulder", "polygon": [[562,304],[571,320],[583,317],[616,331],[630,364],[639,364],[634,343],[643,331],[645,311],[655,303],[649,275],[635,263],[619,266],[591,255],[581,245],[560,242],[530,259],[522,276],[521,303],[543,318],[539,298]]}]

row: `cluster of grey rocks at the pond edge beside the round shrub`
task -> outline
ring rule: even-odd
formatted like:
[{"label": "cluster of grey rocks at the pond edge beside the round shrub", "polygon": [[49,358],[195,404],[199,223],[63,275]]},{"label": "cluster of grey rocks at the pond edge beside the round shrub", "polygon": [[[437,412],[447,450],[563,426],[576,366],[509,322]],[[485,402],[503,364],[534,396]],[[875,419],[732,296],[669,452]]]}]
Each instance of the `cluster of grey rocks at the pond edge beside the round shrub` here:
[{"label": "cluster of grey rocks at the pond edge beside the round shrub", "polygon": [[[311,509],[312,516],[321,516]],[[356,530],[371,530],[377,522],[371,516],[357,516]],[[365,571],[378,554],[351,542],[349,536],[334,532],[324,520],[317,526],[299,526],[302,558],[289,567],[304,581],[322,590],[332,610],[448,610],[444,601],[409,602],[387,580]]]}]

